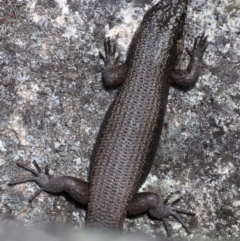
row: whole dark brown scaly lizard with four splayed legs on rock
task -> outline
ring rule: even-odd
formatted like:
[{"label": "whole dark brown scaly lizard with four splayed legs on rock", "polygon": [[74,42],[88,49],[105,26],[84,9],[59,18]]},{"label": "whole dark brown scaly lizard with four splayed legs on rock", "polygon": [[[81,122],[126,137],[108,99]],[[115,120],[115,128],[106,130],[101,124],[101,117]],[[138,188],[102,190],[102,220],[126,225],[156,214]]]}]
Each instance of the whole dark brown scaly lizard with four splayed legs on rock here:
[{"label": "whole dark brown scaly lizard with four splayed legs on rock", "polygon": [[164,122],[169,87],[193,87],[197,82],[206,49],[204,34],[192,51],[186,70],[175,69],[183,50],[187,0],[162,0],[145,14],[130,44],[126,62],[119,64],[116,44],[104,42],[103,79],[106,85],[120,85],[111,104],[91,157],[89,183],[70,176],[51,177],[34,162],[35,171],[18,165],[35,177],[10,183],[33,181],[41,191],[67,192],[79,203],[87,205],[86,225],[103,229],[121,229],[126,215],[149,212],[163,220],[175,217],[190,231],[178,213],[194,215],[173,207],[180,199],[167,205],[155,193],[137,193],[152,166]]}]

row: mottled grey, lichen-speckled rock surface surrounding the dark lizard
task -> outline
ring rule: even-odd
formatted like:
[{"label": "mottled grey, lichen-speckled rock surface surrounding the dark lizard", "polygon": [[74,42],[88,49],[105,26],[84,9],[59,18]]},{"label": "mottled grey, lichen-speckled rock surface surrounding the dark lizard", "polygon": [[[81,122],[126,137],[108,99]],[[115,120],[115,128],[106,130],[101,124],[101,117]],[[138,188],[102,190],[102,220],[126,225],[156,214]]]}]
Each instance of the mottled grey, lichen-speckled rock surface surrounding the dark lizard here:
[{"label": "mottled grey, lichen-speckled rock surface surrounding the dark lizard", "polygon": [[[156,1],[154,2],[156,3]],[[84,225],[85,211],[67,195],[41,193],[16,162],[87,180],[92,148],[116,89],[101,82],[106,36],[122,61],[150,0],[0,1],[0,215],[26,226]],[[209,46],[196,87],[171,89],[161,147],[142,190],[196,212],[174,219],[172,240],[238,240],[240,233],[240,2],[192,1],[185,46],[206,32]],[[181,67],[188,62],[186,54]],[[126,232],[166,237],[161,221],[126,219]]]}]

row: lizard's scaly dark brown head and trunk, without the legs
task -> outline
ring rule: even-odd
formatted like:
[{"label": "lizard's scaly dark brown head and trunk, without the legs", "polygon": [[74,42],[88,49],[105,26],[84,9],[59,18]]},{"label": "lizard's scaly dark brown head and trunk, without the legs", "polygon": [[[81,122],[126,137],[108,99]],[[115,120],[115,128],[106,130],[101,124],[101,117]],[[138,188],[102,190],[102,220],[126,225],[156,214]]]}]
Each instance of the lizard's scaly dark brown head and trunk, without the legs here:
[{"label": "lizard's scaly dark brown head and trunk, without the legs", "polygon": [[87,225],[122,228],[152,166],[163,126],[187,0],[164,0],[144,16],[128,51],[127,77],[102,124],[92,155]]}]

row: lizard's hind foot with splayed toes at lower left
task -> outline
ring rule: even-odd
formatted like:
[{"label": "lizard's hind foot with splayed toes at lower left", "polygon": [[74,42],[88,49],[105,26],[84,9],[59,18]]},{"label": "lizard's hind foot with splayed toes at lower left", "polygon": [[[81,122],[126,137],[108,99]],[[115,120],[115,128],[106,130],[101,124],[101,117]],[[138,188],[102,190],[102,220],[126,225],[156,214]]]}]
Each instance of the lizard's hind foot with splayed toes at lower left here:
[{"label": "lizard's hind foot with splayed toes at lower left", "polygon": [[49,168],[48,165],[46,165],[45,167],[45,173],[43,173],[42,169],[39,167],[39,165],[37,164],[37,162],[34,160],[33,164],[35,166],[35,168],[37,169],[34,170],[22,163],[17,163],[17,165],[29,172],[31,172],[33,174],[32,177],[26,177],[20,180],[16,180],[13,182],[10,182],[8,185],[12,186],[12,185],[17,185],[20,183],[25,183],[25,182],[35,182],[37,183],[41,188],[38,189],[30,198],[29,198],[29,202],[31,202],[36,196],[38,196],[42,191],[44,191],[44,186],[49,182],[49,180],[51,179],[51,176],[49,175]]}]

